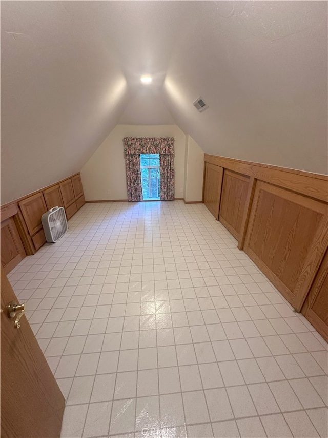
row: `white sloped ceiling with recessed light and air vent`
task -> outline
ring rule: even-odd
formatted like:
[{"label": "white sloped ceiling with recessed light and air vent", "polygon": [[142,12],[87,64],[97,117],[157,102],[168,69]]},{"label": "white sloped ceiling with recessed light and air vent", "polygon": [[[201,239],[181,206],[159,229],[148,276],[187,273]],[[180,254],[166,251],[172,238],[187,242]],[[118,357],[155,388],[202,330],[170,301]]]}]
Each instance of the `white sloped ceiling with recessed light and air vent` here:
[{"label": "white sloped ceiling with recessed light and air vent", "polygon": [[326,2],[8,1],[1,32],[2,204],[78,172],[118,123],[328,173]]}]

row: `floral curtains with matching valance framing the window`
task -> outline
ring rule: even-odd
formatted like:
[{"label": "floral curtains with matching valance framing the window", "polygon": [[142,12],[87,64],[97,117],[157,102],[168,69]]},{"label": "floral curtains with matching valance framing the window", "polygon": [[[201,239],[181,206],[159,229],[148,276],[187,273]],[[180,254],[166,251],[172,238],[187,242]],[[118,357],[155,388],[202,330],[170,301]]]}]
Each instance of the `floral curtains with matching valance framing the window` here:
[{"label": "floral curtains with matching valance framing the window", "polygon": [[142,201],[140,154],[159,154],[160,199],[174,200],[174,138],[125,137],[127,187],[129,201]]}]

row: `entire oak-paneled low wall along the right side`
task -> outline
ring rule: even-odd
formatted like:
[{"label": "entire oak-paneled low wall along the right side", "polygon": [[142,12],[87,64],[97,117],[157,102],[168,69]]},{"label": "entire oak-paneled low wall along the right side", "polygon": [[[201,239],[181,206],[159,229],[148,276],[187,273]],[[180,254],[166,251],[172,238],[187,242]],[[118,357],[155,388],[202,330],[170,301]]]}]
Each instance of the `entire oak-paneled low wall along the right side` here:
[{"label": "entire oak-paneled low wall along the right side", "polygon": [[204,160],[203,200],[209,211],[323,333],[328,319],[328,177],[210,155]]}]

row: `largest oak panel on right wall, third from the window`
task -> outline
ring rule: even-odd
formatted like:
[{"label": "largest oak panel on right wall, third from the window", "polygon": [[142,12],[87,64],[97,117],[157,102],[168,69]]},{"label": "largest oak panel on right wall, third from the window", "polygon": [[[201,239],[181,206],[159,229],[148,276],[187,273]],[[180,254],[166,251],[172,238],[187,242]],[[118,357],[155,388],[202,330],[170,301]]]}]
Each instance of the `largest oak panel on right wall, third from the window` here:
[{"label": "largest oak panel on right wall, third from the window", "polygon": [[306,265],[308,280],[314,278],[325,253],[316,247],[326,219],[323,202],[257,182],[244,251],[297,310],[309,291],[304,294],[298,287],[309,254],[315,254],[316,260]]}]

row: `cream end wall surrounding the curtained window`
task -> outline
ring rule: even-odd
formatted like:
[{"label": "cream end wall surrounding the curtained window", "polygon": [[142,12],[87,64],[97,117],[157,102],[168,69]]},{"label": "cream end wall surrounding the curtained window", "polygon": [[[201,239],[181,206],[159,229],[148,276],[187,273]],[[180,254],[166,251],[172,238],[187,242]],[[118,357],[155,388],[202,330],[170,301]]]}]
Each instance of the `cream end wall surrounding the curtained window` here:
[{"label": "cream end wall surrounding the curtained window", "polygon": [[182,198],[186,136],[181,129],[177,125],[117,125],[80,171],[86,200],[127,199],[124,137],[174,137],[175,197]]}]

